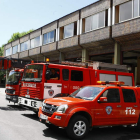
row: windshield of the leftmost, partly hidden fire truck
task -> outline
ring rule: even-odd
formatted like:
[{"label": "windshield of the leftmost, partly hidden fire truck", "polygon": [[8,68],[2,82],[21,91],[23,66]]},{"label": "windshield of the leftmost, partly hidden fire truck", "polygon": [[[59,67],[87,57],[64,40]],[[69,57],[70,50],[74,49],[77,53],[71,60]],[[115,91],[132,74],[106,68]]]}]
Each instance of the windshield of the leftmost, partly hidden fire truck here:
[{"label": "windshield of the leftmost, partly hidden fire truck", "polygon": [[7,84],[9,85],[17,85],[20,79],[20,72],[11,71],[9,73]]}]

